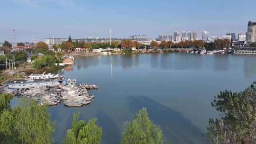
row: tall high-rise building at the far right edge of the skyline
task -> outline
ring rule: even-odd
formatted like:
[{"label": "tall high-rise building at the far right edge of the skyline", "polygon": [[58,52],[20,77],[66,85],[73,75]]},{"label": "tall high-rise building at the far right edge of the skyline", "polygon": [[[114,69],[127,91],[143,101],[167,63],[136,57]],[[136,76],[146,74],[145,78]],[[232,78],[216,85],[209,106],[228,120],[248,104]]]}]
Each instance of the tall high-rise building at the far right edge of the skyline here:
[{"label": "tall high-rise building at the far right edge of the skyline", "polygon": [[256,42],[256,22],[248,22],[247,27],[247,45]]}]

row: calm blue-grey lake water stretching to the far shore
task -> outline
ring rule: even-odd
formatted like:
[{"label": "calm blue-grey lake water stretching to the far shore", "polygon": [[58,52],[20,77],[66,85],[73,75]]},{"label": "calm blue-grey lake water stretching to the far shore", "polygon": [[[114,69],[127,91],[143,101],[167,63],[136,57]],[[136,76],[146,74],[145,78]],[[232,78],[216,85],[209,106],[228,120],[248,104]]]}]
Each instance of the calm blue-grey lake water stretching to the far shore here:
[{"label": "calm blue-grey lake water stretching to the far shore", "polygon": [[53,135],[60,144],[74,112],[88,121],[97,117],[102,144],[117,144],[125,121],[146,107],[150,119],[163,129],[165,144],[205,144],[210,106],[221,90],[243,90],[256,80],[256,56],[200,54],[134,54],[76,57],[62,71],[78,83],[94,83],[95,99],[84,107],[50,107],[56,121]]}]

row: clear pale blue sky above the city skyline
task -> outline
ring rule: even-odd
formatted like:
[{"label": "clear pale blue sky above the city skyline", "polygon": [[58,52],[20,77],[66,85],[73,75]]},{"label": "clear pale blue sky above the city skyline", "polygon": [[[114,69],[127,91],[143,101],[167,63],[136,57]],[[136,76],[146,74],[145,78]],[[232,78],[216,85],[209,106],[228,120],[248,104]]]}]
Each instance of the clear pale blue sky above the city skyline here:
[{"label": "clear pale blue sky above the city skyline", "polygon": [[0,0],[0,42],[44,41],[46,37],[128,38],[174,31],[210,35],[245,33],[256,21],[256,0]]}]

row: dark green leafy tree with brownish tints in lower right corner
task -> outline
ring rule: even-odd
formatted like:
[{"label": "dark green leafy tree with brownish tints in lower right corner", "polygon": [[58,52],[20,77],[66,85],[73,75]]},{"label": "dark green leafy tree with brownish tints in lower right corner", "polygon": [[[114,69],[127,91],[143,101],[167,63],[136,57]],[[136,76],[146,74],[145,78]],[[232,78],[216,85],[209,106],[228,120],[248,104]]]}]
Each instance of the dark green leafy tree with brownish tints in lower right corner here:
[{"label": "dark green leafy tree with brownish tints in lower right corner", "polygon": [[210,119],[206,137],[212,144],[256,142],[256,82],[241,92],[221,91],[211,102],[221,112]]}]

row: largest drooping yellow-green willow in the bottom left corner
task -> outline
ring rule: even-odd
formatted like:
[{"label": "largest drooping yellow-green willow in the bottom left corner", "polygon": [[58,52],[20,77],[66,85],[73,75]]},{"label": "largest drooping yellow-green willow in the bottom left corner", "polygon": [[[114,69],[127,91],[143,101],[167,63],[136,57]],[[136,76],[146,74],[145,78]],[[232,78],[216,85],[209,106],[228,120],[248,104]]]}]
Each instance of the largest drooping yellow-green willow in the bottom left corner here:
[{"label": "largest drooping yellow-green willow in the bottom left corner", "polygon": [[0,116],[1,144],[51,144],[54,123],[46,107],[23,99],[20,107],[4,110]]}]

